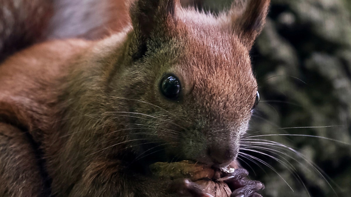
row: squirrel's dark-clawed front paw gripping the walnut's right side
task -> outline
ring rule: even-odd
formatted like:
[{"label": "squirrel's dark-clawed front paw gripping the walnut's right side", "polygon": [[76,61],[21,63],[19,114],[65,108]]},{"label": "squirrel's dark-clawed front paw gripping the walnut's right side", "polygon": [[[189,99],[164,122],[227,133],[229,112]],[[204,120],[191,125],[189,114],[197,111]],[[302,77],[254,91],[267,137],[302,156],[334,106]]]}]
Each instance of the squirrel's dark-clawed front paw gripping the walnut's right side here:
[{"label": "squirrel's dark-clawed front paw gripping the walnut's right side", "polygon": [[247,170],[239,168],[218,180],[228,184],[232,190],[231,197],[262,197],[257,191],[263,190],[264,184],[259,181],[248,180],[247,175],[249,175]]}]

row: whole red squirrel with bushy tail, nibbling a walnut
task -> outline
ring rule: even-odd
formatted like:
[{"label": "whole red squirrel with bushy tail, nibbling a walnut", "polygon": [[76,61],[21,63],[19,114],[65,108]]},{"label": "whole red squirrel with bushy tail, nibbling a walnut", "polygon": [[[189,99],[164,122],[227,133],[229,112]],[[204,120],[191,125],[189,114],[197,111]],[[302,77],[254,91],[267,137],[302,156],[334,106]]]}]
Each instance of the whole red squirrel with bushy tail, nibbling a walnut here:
[{"label": "whole red squirrel with bushy tail, nibbling a walnut", "polygon": [[[23,13],[25,1],[0,2],[12,4],[0,16],[30,27],[0,29],[0,196],[208,196],[148,165],[236,161],[259,99],[249,50],[270,0],[217,16],[179,0],[88,1],[108,9],[87,11],[101,22],[83,29],[61,24],[65,2],[33,1]],[[129,12],[110,16],[118,5]],[[263,184],[234,174],[232,196],[260,196]]]}]

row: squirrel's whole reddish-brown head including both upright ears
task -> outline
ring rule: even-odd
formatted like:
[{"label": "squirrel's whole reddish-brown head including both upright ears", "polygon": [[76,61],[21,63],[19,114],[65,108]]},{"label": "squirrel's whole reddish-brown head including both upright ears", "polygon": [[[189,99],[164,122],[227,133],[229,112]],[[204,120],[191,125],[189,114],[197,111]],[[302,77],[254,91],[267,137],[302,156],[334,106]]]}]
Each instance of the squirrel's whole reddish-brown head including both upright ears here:
[{"label": "squirrel's whole reddish-brown head including both upright ears", "polygon": [[234,3],[216,16],[182,8],[179,0],[131,6],[125,69],[116,69],[109,86],[139,158],[217,166],[236,158],[257,102],[249,50],[269,2]]}]

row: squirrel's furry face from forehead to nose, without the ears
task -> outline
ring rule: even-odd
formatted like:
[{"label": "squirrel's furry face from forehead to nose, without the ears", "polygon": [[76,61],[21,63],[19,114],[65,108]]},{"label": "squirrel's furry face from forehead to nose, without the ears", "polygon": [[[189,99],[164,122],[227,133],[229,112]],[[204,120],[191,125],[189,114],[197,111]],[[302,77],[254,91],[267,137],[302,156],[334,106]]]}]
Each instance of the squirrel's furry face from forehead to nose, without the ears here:
[{"label": "squirrel's furry face from forehead to nose, without the ears", "polygon": [[169,161],[211,165],[227,165],[237,156],[257,84],[248,50],[235,36],[218,36],[172,39],[132,67],[133,84],[123,97],[138,100],[128,101],[128,111],[139,125],[132,136],[146,143],[140,154],[157,151]]}]

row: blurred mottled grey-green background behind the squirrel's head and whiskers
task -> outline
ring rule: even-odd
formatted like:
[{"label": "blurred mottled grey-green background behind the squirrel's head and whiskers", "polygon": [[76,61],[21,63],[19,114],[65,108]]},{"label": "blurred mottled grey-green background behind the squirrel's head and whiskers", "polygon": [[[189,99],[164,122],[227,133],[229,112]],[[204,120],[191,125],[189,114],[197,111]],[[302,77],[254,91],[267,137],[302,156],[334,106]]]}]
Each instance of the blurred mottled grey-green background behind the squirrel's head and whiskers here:
[{"label": "blurred mottled grey-green background behind the squirrel's head and whiskers", "polygon": [[[245,153],[267,165],[241,163],[265,184],[265,197],[351,196],[351,1],[271,1],[251,52],[261,102],[249,133],[273,134],[255,138],[301,155],[261,143],[264,154]],[[198,2],[218,12],[232,1]]]}]

